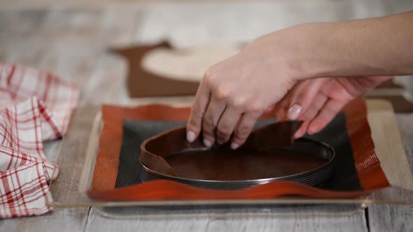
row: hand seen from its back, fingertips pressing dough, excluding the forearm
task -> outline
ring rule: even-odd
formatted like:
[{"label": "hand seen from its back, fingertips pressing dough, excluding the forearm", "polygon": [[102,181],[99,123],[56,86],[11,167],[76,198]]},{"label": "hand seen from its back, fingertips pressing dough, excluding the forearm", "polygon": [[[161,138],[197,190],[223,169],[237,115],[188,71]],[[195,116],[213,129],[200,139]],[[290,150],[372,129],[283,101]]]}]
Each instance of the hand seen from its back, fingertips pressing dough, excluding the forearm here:
[{"label": "hand seen from its back, fingertips pressing dough, excluding the forearm", "polygon": [[195,96],[187,139],[202,133],[204,145],[242,145],[258,117],[279,101],[295,82],[285,57],[274,55],[274,41],[260,38],[209,68]]}]

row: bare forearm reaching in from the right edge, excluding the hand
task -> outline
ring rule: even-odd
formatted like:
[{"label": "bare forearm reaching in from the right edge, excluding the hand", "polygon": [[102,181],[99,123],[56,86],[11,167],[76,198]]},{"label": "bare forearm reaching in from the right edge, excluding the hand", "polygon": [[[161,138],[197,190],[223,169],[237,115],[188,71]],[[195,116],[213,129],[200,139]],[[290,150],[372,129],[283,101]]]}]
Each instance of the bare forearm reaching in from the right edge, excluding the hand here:
[{"label": "bare forearm reaching in from the right edge, excluding the hand", "polygon": [[272,48],[277,52],[286,48],[283,52],[288,53],[288,64],[299,80],[413,74],[413,11],[367,20],[302,24],[280,32],[290,36],[290,41],[281,41],[277,32],[266,37],[273,39]]}]

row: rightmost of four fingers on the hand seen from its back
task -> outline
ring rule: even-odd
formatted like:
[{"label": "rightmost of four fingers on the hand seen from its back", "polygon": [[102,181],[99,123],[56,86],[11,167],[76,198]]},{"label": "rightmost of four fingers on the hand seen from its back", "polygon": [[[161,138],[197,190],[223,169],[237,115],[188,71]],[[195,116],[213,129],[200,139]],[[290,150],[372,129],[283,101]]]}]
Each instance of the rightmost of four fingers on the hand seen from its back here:
[{"label": "rightmost of four fingers on the hand seen from its back", "polygon": [[237,129],[235,130],[234,136],[232,136],[231,148],[237,149],[240,145],[244,144],[246,138],[253,130],[255,122],[257,122],[260,113],[245,113],[239,120]]}]

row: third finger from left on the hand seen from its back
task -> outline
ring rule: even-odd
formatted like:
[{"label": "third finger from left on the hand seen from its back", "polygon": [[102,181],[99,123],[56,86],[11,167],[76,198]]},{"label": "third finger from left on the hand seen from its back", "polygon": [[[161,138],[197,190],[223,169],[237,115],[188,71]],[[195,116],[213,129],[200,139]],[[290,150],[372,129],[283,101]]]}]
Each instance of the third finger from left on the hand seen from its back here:
[{"label": "third finger from left on the hand seen from its back", "polygon": [[225,109],[216,129],[216,143],[223,144],[230,140],[232,132],[239,122],[241,111],[232,107]]}]

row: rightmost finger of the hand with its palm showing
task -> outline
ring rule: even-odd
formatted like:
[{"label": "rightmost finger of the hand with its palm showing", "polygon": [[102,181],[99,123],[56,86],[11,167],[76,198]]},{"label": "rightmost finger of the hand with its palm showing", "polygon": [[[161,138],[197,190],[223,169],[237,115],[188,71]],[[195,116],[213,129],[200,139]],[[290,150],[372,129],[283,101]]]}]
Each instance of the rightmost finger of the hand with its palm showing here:
[{"label": "rightmost finger of the hand with its palm showing", "polygon": [[311,121],[307,132],[309,134],[317,133],[321,131],[334,117],[337,113],[342,110],[347,101],[338,101],[335,99],[328,100],[320,113]]}]

